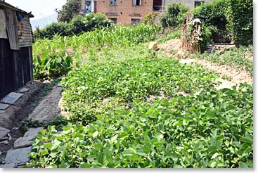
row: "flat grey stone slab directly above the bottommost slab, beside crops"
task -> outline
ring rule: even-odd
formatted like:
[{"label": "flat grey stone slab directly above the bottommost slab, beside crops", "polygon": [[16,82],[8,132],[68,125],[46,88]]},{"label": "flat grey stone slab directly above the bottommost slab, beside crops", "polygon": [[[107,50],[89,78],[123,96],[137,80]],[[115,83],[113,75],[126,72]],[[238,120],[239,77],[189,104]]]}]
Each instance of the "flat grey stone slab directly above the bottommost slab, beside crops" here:
[{"label": "flat grey stone slab directly above the bottommost slab, beside crops", "polygon": [[14,148],[22,148],[32,145],[32,139],[34,139],[41,130],[44,129],[43,127],[39,128],[32,128],[29,129],[22,138],[17,139],[14,141],[13,147]]}]

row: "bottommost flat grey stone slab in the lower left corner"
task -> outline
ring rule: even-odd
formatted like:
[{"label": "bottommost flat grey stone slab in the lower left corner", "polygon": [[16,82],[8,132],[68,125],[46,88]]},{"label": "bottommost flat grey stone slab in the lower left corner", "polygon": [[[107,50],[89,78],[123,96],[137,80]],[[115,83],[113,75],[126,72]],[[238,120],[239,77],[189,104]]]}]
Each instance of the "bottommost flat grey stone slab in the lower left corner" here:
[{"label": "bottommost flat grey stone slab in the lower left corner", "polygon": [[25,165],[27,162],[30,161],[30,156],[29,156],[30,151],[31,151],[30,147],[20,148],[16,150],[8,150],[5,164]]}]

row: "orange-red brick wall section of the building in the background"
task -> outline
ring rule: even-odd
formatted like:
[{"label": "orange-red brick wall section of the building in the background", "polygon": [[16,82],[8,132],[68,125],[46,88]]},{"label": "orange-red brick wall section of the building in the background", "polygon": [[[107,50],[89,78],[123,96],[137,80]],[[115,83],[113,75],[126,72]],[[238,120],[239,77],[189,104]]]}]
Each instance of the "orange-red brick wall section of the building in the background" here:
[{"label": "orange-red brick wall section of the building in the background", "polygon": [[141,6],[132,4],[132,0],[117,0],[117,6],[110,6],[110,0],[97,1],[97,13],[117,18],[117,23],[128,24],[132,18],[143,20],[146,14],[153,12],[153,0],[141,0]]}]

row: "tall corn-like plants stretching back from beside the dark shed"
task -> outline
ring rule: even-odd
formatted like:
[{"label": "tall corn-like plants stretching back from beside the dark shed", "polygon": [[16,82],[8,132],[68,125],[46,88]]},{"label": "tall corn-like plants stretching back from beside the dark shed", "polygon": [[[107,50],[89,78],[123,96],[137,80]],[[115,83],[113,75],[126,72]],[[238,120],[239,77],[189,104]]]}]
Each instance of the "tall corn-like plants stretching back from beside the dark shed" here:
[{"label": "tall corn-like plants stretching back from beside the dark shed", "polygon": [[89,58],[96,58],[96,49],[149,41],[157,37],[160,30],[161,27],[155,25],[120,25],[96,29],[79,36],[55,35],[52,39],[37,39],[33,45],[34,77],[42,79],[66,75],[70,68],[79,66],[85,51],[88,51]]}]

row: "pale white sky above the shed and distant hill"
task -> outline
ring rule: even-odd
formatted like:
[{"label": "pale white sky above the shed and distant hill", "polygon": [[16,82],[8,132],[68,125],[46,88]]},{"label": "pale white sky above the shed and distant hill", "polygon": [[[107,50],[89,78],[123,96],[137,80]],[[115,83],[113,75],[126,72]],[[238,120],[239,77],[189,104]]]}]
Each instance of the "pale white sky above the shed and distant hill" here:
[{"label": "pale white sky above the shed and distant hill", "polygon": [[31,18],[31,20],[37,20],[55,14],[55,9],[60,9],[65,2],[66,0],[6,0],[6,3],[18,7],[23,11],[32,11],[34,18]]}]

